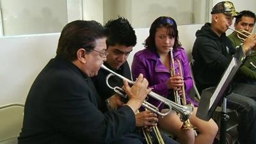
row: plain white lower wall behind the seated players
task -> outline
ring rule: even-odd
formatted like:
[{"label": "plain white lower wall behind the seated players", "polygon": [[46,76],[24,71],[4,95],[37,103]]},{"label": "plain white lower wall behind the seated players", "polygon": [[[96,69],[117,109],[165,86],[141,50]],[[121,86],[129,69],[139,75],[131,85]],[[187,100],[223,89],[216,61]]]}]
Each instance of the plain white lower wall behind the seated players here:
[{"label": "plain white lower wall behind the seated players", "polygon": [[[179,26],[180,42],[190,53],[195,40],[195,31],[202,25]],[[148,28],[135,29],[138,44],[128,61],[131,65],[136,51],[143,49]],[[10,102],[25,102],[35,77],[55,56],[60,33],[0,38],[0,105]]]}]

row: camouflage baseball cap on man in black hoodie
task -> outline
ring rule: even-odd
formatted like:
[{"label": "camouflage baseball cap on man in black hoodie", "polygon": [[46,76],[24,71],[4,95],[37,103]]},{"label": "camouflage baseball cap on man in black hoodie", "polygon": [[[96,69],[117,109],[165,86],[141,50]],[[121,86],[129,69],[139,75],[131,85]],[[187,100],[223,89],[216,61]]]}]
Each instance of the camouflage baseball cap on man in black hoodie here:
[{"label": "camouflage baseball cap on man in black hoodie", "polygon": [[224,13],[230,17],[236,17],[239,15],[239,12],[236,12],[234,4],[230,1],[221,1],[217,3],[213,8],[211,14],[214,13]]}]

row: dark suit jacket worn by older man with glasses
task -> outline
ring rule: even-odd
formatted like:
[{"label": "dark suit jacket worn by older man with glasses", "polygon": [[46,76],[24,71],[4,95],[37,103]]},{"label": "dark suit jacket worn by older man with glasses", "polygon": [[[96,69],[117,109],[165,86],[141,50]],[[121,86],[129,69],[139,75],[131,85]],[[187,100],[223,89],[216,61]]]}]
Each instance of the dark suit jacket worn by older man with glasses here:
[{"label": "dark suit jacket worn by older man with glasses", "polygon": [[49,61],[26,99],[19,144],[111,143],[134,131],[129,106],[102,113],[90,79],[70,61]]}]

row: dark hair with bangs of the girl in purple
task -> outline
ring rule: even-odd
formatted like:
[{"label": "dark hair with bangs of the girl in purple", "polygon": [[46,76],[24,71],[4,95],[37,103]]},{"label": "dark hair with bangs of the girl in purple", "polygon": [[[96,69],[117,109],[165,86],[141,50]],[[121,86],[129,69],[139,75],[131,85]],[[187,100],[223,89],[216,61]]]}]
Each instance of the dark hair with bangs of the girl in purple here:
[{"label": "dark hair with bangs of the girl in purple", "polygon": [[177,49],[181,44],[179,42],[179,31],[177,29],[177,24],[172,17],[158,17],[154,22],[151,24],[149,29],[149,36],[145,40],[145,47],[152,51],[156,51],[156,44],[155,44],[155,36],[157,28],[164,27],[168,31],[168,35],[175,38],[175,42],[173,45],[173,49]]}]

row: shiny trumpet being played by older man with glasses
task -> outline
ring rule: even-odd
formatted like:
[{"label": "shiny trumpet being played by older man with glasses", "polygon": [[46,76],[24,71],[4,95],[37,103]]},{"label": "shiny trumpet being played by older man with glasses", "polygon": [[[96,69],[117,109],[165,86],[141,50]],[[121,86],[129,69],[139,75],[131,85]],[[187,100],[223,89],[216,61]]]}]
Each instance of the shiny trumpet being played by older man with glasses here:
[{"label": "shiny trumpet being played by older man with glasses", "polygon": [[[110,72],[110,74],[106,77],[106,81],[108,81],[109,77],[111,77],[111,76],[117,76],[120,79],[127,81],[129,84],[134,84],[134,81],[131,81],[130,79],[127,79],[126,77],[121,76],[120,74],[117,74],[116,72],[114,72],[113,70],[110,70],[105,65],[102,65],[101,68]],[[107,84],[109,86],[108,82],[107,82]],[[119,88],[118,86],[115,86],[115,87],[110,86],[109,88],[112,88],[116,93],[120,94],[121,96],[124,95],[124,93],[125,93],[124,89]],[[166,113],[161,113],[161,111],[159,111],[159,109],[156,106],[154,106],[153,104],[150,104],[149,102],[147,102],[147,100],[144,100],[142,103],[142,106],[149,109],[150,111],[152,111],[154,113],[157,113],[157,115],[166,116],[173,109],[177,113],[180,113],[180,120],[182,122],[184,122],[184,121],[188,120],[189,116],[191,116],[191,114],[193,113],[194,106],[191,104],[182,106],[182,105],[176,104],[172,100],[166,99],[165,97],[163,97],[157,93],[154,93],[154,92],[149,92],[148,96],[153,97],[156,100],[159,100],[160,102],[162,102],[169,108],[169,110]]]}]

